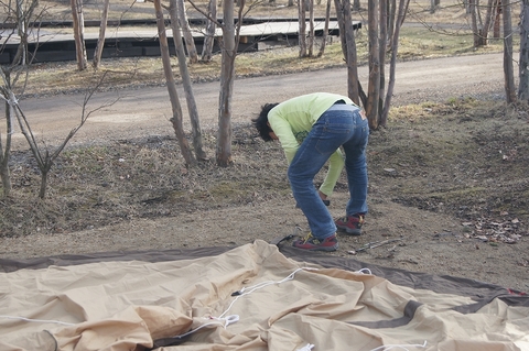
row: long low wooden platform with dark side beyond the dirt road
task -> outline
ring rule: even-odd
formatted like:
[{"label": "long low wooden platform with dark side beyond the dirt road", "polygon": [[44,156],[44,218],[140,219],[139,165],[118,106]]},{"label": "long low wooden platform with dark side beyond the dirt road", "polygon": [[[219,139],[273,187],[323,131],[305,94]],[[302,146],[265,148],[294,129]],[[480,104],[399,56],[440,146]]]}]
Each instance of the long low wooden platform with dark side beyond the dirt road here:
[{"label": "long low wooden platform with dark side beyond the dirt road", "polygon": [[[354,22],[356,30],[361,28],[359,21]],[[118,30],[116,30],[118,29]],[[309,22],[306,23],[309,30]],[[324,20],[314,21],[315,35],[324,35]],[[99,36],[97,26],[85,26],[85,45],[88,59],[91,59]],[[0,29],[0,64],[12,62],[20,39],[10,35],[12,29]],[[168,30],[168,37],[172,37],[172,31]],[[298,45],[299,23],[291,20],[267,20],[255,21],[255,23],[244,24],[240,30],[239,52],[255,52],[260,47],[272,45]],[[336,20],[330,21],[326,35],[339,35]],[[195,45],[198,52],[202,51],[204,35],[199,30],[193,32]],[[217,37],[222,37],[222,31],[217,29]],[[173,41],[170,40],[170,50],[174,54]],[[217,41],[216,41],[217,42]],[[268,44],[268,45],[267,45]],[[72,26],[51,28],[44,25],[39,31],[39,36],[30,37],[30,52],[37,47],[34,63],[75,61],[75,42]],[[214,52],[219,52],[217,44]],[[158,31],[155,23],[143,25],[120,25],[107,28],[105,46],[102,51],[104,58],[110,57],[143,57],[160,56],[160,45],[158,41]]]}]

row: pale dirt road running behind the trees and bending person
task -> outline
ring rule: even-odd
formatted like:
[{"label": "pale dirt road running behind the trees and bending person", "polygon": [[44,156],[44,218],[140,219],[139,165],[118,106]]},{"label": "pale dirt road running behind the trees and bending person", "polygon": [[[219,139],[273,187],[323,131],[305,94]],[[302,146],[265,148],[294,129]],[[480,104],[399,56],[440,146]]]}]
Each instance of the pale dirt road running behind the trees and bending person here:
[{"label": "pale dirt road running behind the trees and bending person", "polygon": [[[460,56],[404,62],[397,66],[392,105],[420,101],[444,101],[451,97],[495,94],[504,96],[503,55]],[[359,68],[360,81],[367,89],[367,67]],[[344,68],[307,72],[282,76],[238,79],[233,98],[233,122],[247,122],[264,102],[313,91],[345,94]],[[201,123],[204,129],[216,128],[218,107],[217,81],[194,85]],[[184,102],[184,92],[179,95]],[[112,101],[117,94],[94,97],[91,108]],[[55,144],[76,125],[83,96],[58,96],[21,101],[33,131]],[[187,123],[186,106],[183,106]],[[171,105],[165,87],[119,91],[119,101],[97,111],[74,138],[73,143],[86,140],[119,140],[145,135],[174,134],[168,121]],[[25,147],[22,134],[15,134],[15,145]]]}]

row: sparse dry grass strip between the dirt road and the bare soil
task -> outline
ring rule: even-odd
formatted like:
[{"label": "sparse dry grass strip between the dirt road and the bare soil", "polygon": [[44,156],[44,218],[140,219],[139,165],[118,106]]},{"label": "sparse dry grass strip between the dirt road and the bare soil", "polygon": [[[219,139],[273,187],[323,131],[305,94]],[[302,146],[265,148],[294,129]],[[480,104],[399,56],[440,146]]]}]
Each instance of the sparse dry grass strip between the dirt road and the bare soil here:
[{"label": "sparse dry grass strip between the dirt road and the bare soil", "polygon": [[[487,226],[505,221],[501,213],[526,223],[527,111],[523,105],[473,99],[395,109],[388,128],[370,138],[370,200],[392,199]],[[215,133],[206,131],[204,143],[214,154]],[[37,200],[40,174],[29,152],[18,152],[12,197],[0,201],[0,235],[72,232],[291,196],[279,144],[263,143],[250,125],[240,125],[233,154],[236,162],[227,168],[213,161],[185,167],[172,136],[71,147],[55,163],[47,198]],[[345,185],[341,178],[336,190]],[[510,230],[525,234],[526,227]]]}]

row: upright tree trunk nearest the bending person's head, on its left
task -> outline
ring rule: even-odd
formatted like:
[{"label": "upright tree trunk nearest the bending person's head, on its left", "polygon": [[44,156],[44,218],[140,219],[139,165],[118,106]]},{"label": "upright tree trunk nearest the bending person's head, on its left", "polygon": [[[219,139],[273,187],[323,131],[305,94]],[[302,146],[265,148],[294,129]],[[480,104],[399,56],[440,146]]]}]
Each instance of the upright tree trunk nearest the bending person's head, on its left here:
[{"label": "upright tree trunk nearest the bending person's head, on its left", "polygon": [[[242,7],[240,7],[242,8]],[[231,97],[234,95],[235,42],[234,2],[223,2],[223,47],[220,67],[220,95],[218,98],[217,165],[226,167],[231,163]]]}]

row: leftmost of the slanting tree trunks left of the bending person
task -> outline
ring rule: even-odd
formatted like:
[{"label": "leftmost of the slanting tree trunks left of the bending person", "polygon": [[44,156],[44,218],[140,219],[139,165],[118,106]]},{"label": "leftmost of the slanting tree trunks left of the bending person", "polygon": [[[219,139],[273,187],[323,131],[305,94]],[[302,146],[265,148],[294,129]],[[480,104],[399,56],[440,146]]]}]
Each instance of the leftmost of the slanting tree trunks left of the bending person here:
[{"label": "leftmost of the slanting tree trunks left of the bending person", "polygon": [[173,123],[174,133],[179,140],[182,156],[187,165],[194,164],[195,160],[193,153],[190,150],[187,140],[185,139],[184,128],[182,123],[182,107],[180,106],[179,95],[176,92],[176,85],[174,83],[173,72],[171,69],[171,56],[169,53],[168,35],[165,34],[165,21],[163,18],[161,0],[154,0],[154,10],[156,12],[156,25],[158,36],[160,40],[160,51],[162,55],[163,72],[168,83],[169,98],[173,109],[173,117],[171,122]]}]

